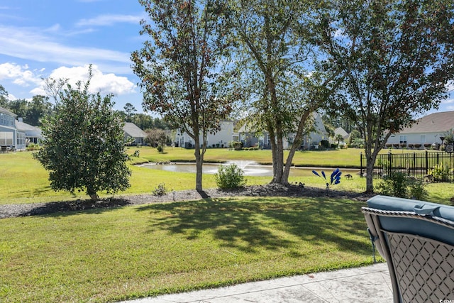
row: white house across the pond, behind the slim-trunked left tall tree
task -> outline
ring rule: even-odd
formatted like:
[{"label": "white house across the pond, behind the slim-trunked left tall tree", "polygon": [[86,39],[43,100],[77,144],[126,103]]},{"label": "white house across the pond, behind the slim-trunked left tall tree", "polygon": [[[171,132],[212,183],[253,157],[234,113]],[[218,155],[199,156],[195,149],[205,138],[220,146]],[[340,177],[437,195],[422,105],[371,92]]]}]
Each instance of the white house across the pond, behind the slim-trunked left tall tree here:
[{"label": "white house across the pond, behind the slim-trunked left tall tree", "polygon": [[[221,121],[221,129],[216,133],[208,133],[206,135],[206,145],[210,148],[226,148],[233,141],[233,121]],[[199,136],[200,144],[203,144],[203,138]],[[177,130],[175,136],[175,146],[182,148],[194,148],[194,139],[181,129]]]}]

